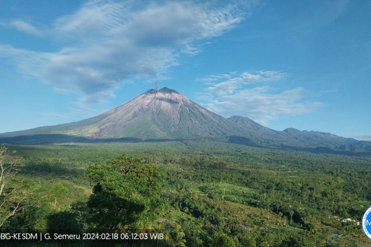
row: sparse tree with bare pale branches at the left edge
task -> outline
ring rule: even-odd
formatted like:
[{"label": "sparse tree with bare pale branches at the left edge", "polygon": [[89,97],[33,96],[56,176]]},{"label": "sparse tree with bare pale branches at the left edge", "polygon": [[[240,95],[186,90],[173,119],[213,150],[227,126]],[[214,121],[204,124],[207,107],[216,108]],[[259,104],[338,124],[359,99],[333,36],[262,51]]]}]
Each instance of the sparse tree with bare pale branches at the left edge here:
[{"label": "sparse tree with bare pale branches at the left edge", "polygon": [[29,179],[15,178],[23,165],[23,159],[15,156],[15,153],[5,145],[0,146],[0,227],[9,217],[27,206],[24,203],[33,190]]}]

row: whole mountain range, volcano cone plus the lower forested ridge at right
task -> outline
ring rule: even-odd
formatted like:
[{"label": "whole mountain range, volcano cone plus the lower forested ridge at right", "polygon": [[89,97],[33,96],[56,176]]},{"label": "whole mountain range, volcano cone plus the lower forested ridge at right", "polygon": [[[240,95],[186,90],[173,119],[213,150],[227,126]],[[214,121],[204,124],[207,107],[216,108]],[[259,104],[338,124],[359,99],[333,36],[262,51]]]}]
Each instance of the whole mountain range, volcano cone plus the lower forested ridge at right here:
[{"label": "whole mountain range, volcano cone plus the lower forested ridge at right", "polygon": [[[89,139],[211,138],[261,147],[330,148],[331,150],[371,152],[371,142],[287,128],[272,130],[240,116],[224,118],[183,94],[164,87],[150,89],[132,100],[89,119],[0,134],[0,138],[63,134]],[[1,141],[1,139],[0,139]]]}]

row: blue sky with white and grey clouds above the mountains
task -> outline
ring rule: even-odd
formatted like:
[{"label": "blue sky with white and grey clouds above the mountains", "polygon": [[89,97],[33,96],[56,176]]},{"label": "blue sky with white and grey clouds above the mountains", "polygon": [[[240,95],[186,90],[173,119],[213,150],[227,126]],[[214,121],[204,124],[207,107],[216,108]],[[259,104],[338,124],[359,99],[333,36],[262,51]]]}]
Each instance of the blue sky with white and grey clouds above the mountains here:
[{"label": "blue sky with white and grey clouds above the mountains", "polygon": [[0,2],[0,133],[169,87],[224,117],[371,140],[370,1]]}]

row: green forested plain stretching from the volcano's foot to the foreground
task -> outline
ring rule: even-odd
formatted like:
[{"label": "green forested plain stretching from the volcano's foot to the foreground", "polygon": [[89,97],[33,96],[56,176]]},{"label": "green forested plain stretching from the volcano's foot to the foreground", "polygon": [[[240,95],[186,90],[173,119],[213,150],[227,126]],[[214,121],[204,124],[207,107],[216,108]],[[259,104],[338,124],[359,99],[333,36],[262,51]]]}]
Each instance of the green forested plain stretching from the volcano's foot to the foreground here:
[{"label": "green forested plain stretching from the volcano's foot to the foreground", "polygon": [[[0,193],[0,233],[141,239],[1,244],[371,246],[359,224],[371,205],[371,156],[364,153],[210,140],[5,145],[3,150],[11,157],[4,166],[16,166]],[[150,233],[164,237],[142,239]]]}]

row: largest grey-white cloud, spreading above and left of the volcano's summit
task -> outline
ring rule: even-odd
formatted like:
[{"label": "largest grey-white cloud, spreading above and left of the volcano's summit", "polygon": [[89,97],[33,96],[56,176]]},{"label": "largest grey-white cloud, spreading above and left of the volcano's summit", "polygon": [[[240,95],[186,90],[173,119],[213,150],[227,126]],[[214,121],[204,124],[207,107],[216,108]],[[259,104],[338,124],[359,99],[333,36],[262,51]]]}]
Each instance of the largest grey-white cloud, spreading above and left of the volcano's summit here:
[{"label": "largest grey-white cloud, spreading above and left of the volcano's summit", "polygon": [[[240,7],[93,0],[56,19],[43,33],[51,41],[58,40],[59,51],[0,44],[0,56],[59,93],[79,95],[81,104],[100,103],[114,97],[125,81],[162,76],[181,64],[183,56],[200,53],[198,41],[220,36],[242,21]],[[23,21],[12,23],[28,33],[40,32]]]}]

